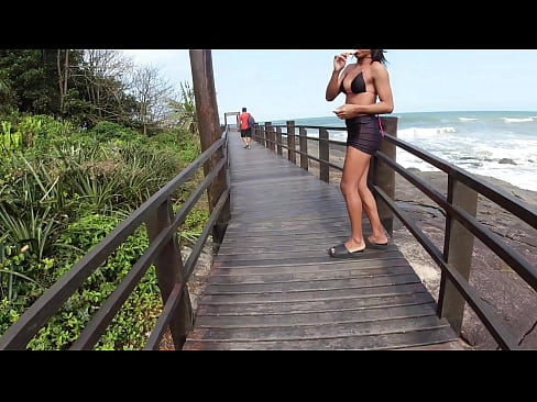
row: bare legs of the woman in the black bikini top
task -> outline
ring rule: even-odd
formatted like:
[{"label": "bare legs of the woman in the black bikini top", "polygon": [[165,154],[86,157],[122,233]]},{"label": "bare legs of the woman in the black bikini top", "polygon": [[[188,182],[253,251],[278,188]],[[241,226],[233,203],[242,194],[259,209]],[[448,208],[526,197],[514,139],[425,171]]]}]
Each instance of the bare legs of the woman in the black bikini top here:
[{"label": "bare legs of the woman in the black bikini top", "polygon": [[371,155],[350,146],[347,147],[340,188],[351,222],[351,238],[344,243],[350,253],[365,248],[362,210],[371,222],[372,235],[369,239],[379,244],[387,242],[379,217],[375,199],[368,188],[370,160]]}]

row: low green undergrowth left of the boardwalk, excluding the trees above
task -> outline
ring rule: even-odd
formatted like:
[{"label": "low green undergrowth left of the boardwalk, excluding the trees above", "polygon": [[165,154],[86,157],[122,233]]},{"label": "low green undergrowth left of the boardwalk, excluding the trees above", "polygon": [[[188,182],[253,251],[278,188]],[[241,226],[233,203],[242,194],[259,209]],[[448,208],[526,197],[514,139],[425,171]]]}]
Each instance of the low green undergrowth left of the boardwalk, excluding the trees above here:
[{"label": "low green undergrowth left of the boardwalk, excluding the trees above", "polygon": [[[13,125],[10,132],[24,132],[31,142],[0,155],[0,206],[6,217],[0,219],[0,335],[129,212],[199,155],[198,138],[183,131],[147,138],[110,122],[85,131],[42,115],[6,121]],[[198,171],[177,191],[177,205],[200,179]],[[182,239],[195,241],[207,217],[207,211],[194,210]],[[28,347],[68,348],[146,247],[142,226]],[[150,268],[96,348],[142,348],[161,309]]]}]

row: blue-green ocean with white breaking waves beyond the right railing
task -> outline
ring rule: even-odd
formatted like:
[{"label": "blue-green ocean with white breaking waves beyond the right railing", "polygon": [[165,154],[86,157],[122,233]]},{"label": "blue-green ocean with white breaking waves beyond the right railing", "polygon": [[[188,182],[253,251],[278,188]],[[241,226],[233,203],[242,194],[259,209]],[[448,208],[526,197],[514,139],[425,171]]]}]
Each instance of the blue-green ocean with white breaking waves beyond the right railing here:
[{"label": "blue-green ocean with white breaking waves beyond the right railing", "polygon": [[[393,113],[397,137],[476,175],[537,191],[537,112],[475,111]],[[285,124],[285,121],[273,121]],[[344,127],[336,116],[296,119],[296,125]],[[318,135],[308,130],[308,135]],[[344,131],[330,131],[330,138],[344,142]],[[414,155],[397,149],[405,168],[438,170]]]}]

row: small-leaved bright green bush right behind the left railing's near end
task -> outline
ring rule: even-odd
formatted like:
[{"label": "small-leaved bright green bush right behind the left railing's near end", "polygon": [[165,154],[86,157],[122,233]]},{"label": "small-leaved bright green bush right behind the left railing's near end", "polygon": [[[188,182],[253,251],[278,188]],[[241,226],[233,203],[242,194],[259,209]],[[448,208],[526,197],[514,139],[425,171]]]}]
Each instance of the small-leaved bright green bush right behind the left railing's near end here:
[{"label": "small-leaved bright green bush right behind the left railing's near end", "polygon": [[[62,234],[59,279],[84,255],[84,250],[102,241],[121,222],[120,216],[87,215]],[[143,227],[130,236],[63,305],[39,332],[29,349],[67,349],[78,338],[92,315],[125,277],[149,246]],[[73,253],[79,249],[79,253]],[[141,349],[162,309],[154,269],[150,269],[96,345],[97,349]]]}]

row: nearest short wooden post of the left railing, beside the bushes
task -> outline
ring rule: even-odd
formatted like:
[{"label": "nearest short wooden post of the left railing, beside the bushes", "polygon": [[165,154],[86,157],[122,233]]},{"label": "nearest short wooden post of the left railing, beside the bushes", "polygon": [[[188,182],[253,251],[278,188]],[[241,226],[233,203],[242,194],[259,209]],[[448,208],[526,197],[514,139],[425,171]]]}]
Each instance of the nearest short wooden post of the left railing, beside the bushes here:
[{"label": "nearest short wooden post of the left railing, beside the bushes", "polygon": [[[164,228],[172,224],[173,215],[172,201],[166,199],[166,201],[156,210],[155,215],[146,222],[150,243],[152,243]],[[177,233],[172,236],[169,243],[155,259],[155,269],[162,301],[163,303],[166,303],[175,284],[185,283],[185,272],[177,242]],[[177,310],[169,322],[169,332],[172,333],[176,350],[180,350],[188,333],[193,330],[193,326],[194,313],[190,304],[190,295],[188,293],[188,287],[185,286]]]}]

